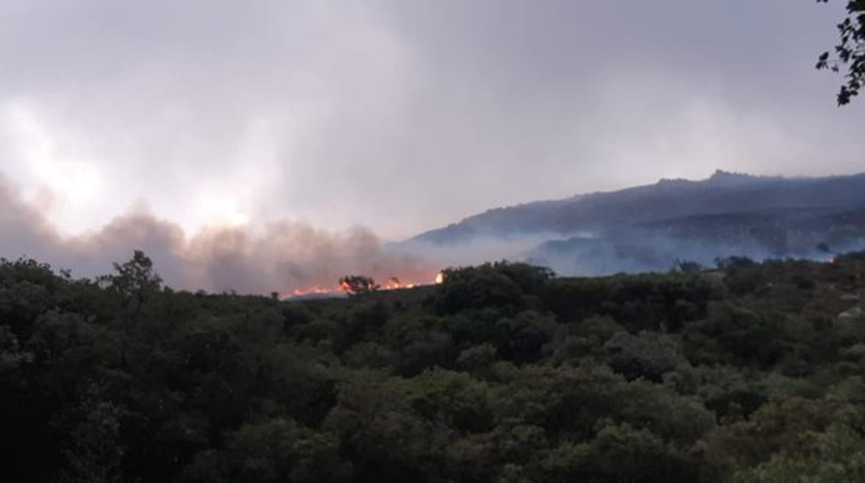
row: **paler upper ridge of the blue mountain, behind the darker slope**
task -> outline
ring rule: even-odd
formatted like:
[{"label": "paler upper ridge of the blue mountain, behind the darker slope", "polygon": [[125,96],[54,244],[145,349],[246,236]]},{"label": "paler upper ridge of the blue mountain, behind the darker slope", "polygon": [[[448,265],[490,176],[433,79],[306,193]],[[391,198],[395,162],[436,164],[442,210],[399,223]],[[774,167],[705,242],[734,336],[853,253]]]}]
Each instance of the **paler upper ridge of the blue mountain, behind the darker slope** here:
[{"label": "paler upper ridge of the blue mountain, behind the darker slope", "polygon": [[[829,186],[832,185],[832,186]],[[852,185],[852,186],[845,186]],[[795,190],[795,193],[785,194]],[[865,173],[822,177],[761,176],[718,169],[705,180],[662,178],[653,184],[496,207],[422,232],[402,243],[458,245],[471,238],[603,230],[611,224],[695,213],[771,207],[839,207],[865,203]],[[825,195],[825,200],[819,200]],[[803,202],[804,200],[804,202]]]}]

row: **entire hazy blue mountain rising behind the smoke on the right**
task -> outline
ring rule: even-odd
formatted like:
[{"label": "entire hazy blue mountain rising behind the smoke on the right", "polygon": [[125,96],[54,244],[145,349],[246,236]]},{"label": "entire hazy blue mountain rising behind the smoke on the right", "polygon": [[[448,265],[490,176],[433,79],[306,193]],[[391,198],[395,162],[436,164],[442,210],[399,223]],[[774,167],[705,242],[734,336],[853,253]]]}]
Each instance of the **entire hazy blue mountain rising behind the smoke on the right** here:
[{"label": "entire hazy blue mountain rising behind the smoke on the right", "polygon": [[[529,240],[529,246],[521,246]],[[398,244],[400,250],[510,257],[567,274],[666,270],[678,259],[821,257],[816,246],[865,245],[865,174],[820,178],[716,171],[655,184],[488,210]]]}]

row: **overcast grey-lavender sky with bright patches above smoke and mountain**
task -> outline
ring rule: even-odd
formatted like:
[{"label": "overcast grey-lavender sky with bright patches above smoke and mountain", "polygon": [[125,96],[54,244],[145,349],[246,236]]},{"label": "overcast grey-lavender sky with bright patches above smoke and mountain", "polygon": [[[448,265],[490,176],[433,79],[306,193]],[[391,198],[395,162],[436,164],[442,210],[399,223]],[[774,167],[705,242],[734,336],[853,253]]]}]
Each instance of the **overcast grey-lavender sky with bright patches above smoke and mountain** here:
[{"label": "overcast grey-lavender sky with bright patches above smoke and mountain", "polygon": [[2,0],[0,196],[31,222],[0,256],[135,217],[184,250],[380,243],[716,168],[865,171],[862,103],[814,69],[842,3]]}]

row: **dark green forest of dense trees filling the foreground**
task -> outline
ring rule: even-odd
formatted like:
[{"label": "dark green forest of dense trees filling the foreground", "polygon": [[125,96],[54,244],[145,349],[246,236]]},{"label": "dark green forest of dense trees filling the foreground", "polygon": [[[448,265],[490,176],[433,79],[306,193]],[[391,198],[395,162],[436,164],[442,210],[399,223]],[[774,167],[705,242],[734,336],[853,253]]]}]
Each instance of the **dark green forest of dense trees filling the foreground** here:
[{"label": "dark green forest of dense trees filling the foreground", "polygon": [[322,300],[0,263],[0,454],[33,482],[865,481],[865,252]]}]

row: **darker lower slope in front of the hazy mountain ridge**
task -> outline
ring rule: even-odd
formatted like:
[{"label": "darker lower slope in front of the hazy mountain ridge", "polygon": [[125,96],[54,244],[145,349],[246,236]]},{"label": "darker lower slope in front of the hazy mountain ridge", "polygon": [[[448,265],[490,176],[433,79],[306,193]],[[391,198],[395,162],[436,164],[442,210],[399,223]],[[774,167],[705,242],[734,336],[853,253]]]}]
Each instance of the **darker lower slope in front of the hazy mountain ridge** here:
[{"label": "darker lower slope in front of the hazy mountain ridge", "polygon": [[818,249],[865,247],[865,209],[778,208],[740,213],[695,214],[612,228],[603,235],[553,239],[522,253],[563,274],[607,275],[665,271],[678,261],[714,264],[717,257],[807,257],[826,260]]}]

